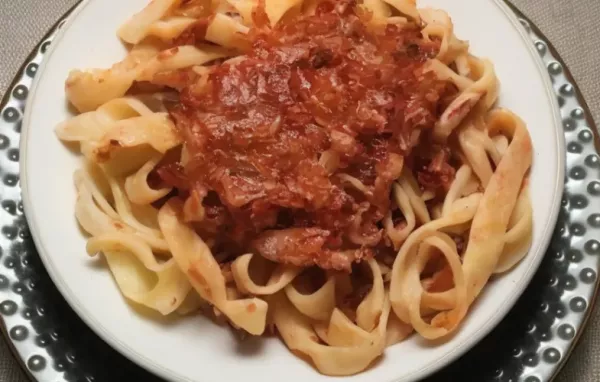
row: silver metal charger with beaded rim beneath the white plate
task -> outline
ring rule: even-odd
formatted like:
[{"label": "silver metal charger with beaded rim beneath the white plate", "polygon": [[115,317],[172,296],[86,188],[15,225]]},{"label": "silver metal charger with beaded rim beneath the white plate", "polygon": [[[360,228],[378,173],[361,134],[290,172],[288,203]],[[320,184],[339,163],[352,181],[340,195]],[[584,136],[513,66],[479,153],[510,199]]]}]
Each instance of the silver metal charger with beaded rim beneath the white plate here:
[{"label": "silver metal charger with beaded rim beneath the white plate", "polygon": [[[546,64],[559,101],[567,143],[562,208],[544,261],[513,310],[490,335],[430,381],[554,378],[581,336],[600,285],[600,242],[593,239],[600,229],[600,214],[594,212],[600,211],[600,174],[588,176],[588,171],[600,169],[596,127],[552,45],[512,9]],[[64,301],[36,253],[20,203],[18,146],[28,90],[72,10],[28,57],[0,104],[0,321],[32,379],[158,381],[100,340]],[[108,370],[105,365],[112,367]]]}]

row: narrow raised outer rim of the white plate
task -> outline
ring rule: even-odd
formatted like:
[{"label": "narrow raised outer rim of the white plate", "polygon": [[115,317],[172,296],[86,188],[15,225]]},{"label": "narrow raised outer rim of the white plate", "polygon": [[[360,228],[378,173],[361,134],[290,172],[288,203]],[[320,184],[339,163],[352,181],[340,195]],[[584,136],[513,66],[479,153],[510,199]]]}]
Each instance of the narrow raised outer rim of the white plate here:
[{"label": "narrow raised outer rim of the white plate", "polygon": [[[160,364],[152,362],[146,356],[138,353],[135,348],[125,344],[119,338],[116,338],[112,333],[93,315],[91,315],[85,308],[83,308],[77,301],[77,298],[71,293],[71,288],[63,282],[60,278],[58,272],[51,261],[51,256],[46,248],[42,245],[42,242],[39,238],[39,230],[38,230],[38,221],[39,219],[35,219],[36,216],[34,213],[34,209],[30,204],[29,198],[29,186],[28,186],[28,176],[27,176],[27,158],[28,158],[28,141],[29,141],[29,125],[30,118],[32,114],[32,106],[31,99],[34,97],[37,91],[38,84],[40,79],[43,77],[47,63],[50,61],[51,56],[54,54],[56,47],[59,45],[66,31],[70,28],[71,24],[77,19],[78,15],[81,11],[89,5],[92,1],[97,0],[81,0],[79,3],[75,4],[71,9],[69,9],[65,15],[66,17],[62,17],[56,25],[61,24],[62,26],[60,30],[56,33],[53,38],[53,43],[50,46],[50,49],[46,52],[44,60],[42,61],[38,73],[35,76],[33,83],[30,87],[29,94],[25,101],[25,111],[23,113],[22,119],[22,130],[21,137],[19,142],[19,151],[21,153],[19,160],[19,171],[20,171],[20,185],[21,185],[21,199],[23,203],[24,214],[27,218],[27,224],[29,226],[32,240],[35,244],[36,250],[39,253],[39,257],[44,265],[44,268],[48,272],[53,284],[59,290],[61,296],[65,299],[68,305],[76,312],[77,316],[96,334],[98,335],[104,342],[106,342],[109,346],[111,346],[115,351],[117,351],[122,356],[129,359],[131,362],[136,365],[146,369],[147,371],[167,380],[177,380],[177,381],[189,381],[189,382],[197,382],[194,381],[184,375],[178,374],[175,371],[166,368]],[[519,280],[519,288],[516,288],[512,294],[508,296],[505,303],[499,309],[499,314],[496,314],[492,320],[490,320],[491,324],[488,324],[484,327],[480,327],[477,331],[475,331],[471,337],[471,339],[467,339],[462,343],[459,343],[454,349],[449,351],[444,356],[437,359],[437,363],[435,365],[426,365],[421,369],[415,370],[410,374],[407,374],[403,377],[392,377],[390,382],[398,382],[398,381],[413,381],[419,378],[425,378],[433,375],[435,372],[441,370],[445,366],[454,362],[460,356],[464,355],[469,349],[474,347],[477,343],[479,343],[486,335],[492,332],[498,324],[506,317],[506,315],[512,310],[517,300],[520,296],[525,292],[528,286],[531,284],[531,280],[535,275],[536,271],[539,269],[540,264],[545,257],[545,253],[548,250],[550,243],[553,238],[554,227],[558,220],[558,215],[560,211],[560,200],[562,198],[565,182],[563,181],[565,176],[565,168],[566,168],[566,143],[565,136],[562,132],[562,124],[563,118],[560,114],[560,107],[555,97],[555,92],[553,90],[553,85],[550,79],[550,76],[547,73],[547,68],[542,60],[542,58],[537,54],[534,45],[531,42],[531,38],[528,36],[527,31],[523,27],[523,25],[519,22],[517,15],[522,13],[517,10],[517,12],[511,9],[511,5],[509,0],[487,0],[497,6],[500,11],[503,13],[504,17],[506,17],[513,28],[516,29],[521,37],[521,40],[525,42],[525,45],[529,51],[530,57],[536,63],[536,67],[538,73],[541,75],[542,80],[544,82],[544,88],[546,92],[546,96],[551,103],[551,109],[553,114],[553,127],[554,133],[556,135],[556,145],[554,151],[557,153],[556,155],[556,165],[557,165],[557,173],[556,178],[559,181],[555,182],[554,188],[552,190],[552,210],[549,215],[549,219],[545,222],[545,226],[543,229],[543,233],[541,236],[541,243],[536,248],[536,252],[540,252],[535,260],[530,264],[530,266],[526,269],[524,276]],[[512,5],[513,8],[514,5]],[[524,16],[523,16],[524,17]],[[526,18],[526,17],[524,17]],[[50,30],[52,31],[52,27]],[[10,87],[9,87],[10,89]],[[585,101],[584,101],[585,102]],[[586,104],[587,106],[587,104]],[[595,126],[595,125],[594,125]],[[600,286],[600,283],[599,283]],[[596,288],[596,292],[598,292]],[[592,309],[590,309],[592,310]],[[591,315],[591,313],[590,313]],[[585,325],[582,325],[585,327]],[[578,341],[575,342],[578,344]],[[574,346],[573,346],[574,347]],[[560,368],[556,371],[555,376],[560,371]]]}]

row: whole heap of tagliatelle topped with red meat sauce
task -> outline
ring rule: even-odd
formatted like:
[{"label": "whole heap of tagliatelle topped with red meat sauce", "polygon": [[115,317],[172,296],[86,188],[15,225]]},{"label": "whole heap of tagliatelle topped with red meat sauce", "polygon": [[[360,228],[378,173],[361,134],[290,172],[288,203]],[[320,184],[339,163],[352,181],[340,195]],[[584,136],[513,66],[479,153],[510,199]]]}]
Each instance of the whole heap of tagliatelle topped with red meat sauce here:
[{"label": "whole heap of tagliatelle topped with red meat sauce", "polygon": [[208,307],[352,375],[460,330],[526,255],[529,133],[444,11],[153,0],[118,36],[122,61],[69,74],[56,134],[83,156],[86,251],[131,303]]}]

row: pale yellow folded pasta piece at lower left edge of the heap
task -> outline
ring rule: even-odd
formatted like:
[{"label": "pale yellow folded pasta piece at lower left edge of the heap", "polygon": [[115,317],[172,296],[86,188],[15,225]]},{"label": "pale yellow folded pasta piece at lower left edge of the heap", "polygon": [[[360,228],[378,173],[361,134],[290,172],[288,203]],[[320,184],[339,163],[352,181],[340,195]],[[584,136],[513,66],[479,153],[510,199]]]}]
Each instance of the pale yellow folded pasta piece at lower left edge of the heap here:
[{"label": "pale yellow folded pasta piece at lower left edge of the heap", "polygon": [[92,237],[86,250],[90,255],[104,253],[126,298],[163,315],[178,309],[192,289],[173,259],[159,264],[150,246],[132,234],[115,232]]}]

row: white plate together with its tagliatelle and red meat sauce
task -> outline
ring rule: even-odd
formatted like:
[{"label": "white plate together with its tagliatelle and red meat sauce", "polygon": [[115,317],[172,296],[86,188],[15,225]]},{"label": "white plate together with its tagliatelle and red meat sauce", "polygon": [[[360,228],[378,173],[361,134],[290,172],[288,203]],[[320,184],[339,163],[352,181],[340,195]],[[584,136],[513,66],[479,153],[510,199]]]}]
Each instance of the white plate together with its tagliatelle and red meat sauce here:
[{"label": "white plate together with its tagliatelle and red meat sauce", "polygon": [[496,0],[86,0],[27,105],[50,276],[173,381],[424,378],[560,206],[552,84]]}]

